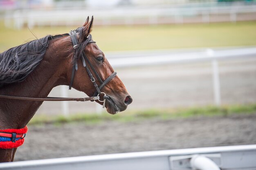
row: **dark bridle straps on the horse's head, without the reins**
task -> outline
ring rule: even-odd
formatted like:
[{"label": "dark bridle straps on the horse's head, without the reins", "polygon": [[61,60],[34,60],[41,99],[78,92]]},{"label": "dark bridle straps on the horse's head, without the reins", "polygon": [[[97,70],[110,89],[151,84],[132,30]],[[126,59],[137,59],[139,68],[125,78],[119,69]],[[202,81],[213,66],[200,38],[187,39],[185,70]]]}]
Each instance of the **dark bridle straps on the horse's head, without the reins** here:
[{"label": "dark bridle straps on the horse's head, without the reins", "polygon": [[[77,59],[79,58],[79,56],[76,56],[76,48],[79,46],[79,41],[77,39],[77,35],[76,35],[76,31],[70,31],[69,33],[70,37],[71,37],[71,40],[72,40],[72,44],[73,44],[73,48],[75,49],[74,51],[74,57],[75,57],[75,60],[74,60],[74,66],[72,68],[72,75],[71,75],[71,80],[70,80],[70,85],[69,85],[69,89],[71,89],[72,87],[72,84],[73,84],[73,81],[74,81],[74,74],[75,74],[75,71],[78,70],[78,65],[77,65]],[[88,35],[89,37],[90,35]],[[88,44],[90,43],[95,43],[95,41],[89,41],[85,46],[87,46]],[[99,74],[97,73],[97,71],[95,70],[95,68],[93,67],[92,63],[89,61],[88,57],[86,56],[85,52],[83,51],[82,54],[81,54],[81,59],[82,59],[82,62],[83,62],[83,67],[86,68],[86,71],[94,85],[94,87],[96,88],[96,92],[94,92],[93,96],[99,96],[100,94],[104,94],[104,99],[108,98],[108,96],[106,96],[105,93],[102,93],[101,92],[101,89],[110,81],[112,80],[112,78],[114,78],[116,75],[117,75],[117,72],[113,72],[108,78],[106,78],[104,81],[101,80]],[[100,85],[98,86],[97,83],[95,82],[95,78],[94,76],[92,75],[88,65],[86,64],[88,63],[90,65],[90,68],[92,69],[92,71],[94,72],[94,74],[96,75],[96,77],[98,78],[99,82],[100,82]],[[100,102],[103,102],[103,100],[99,99]],[[103,106],[104,107],[104,106]]]}]

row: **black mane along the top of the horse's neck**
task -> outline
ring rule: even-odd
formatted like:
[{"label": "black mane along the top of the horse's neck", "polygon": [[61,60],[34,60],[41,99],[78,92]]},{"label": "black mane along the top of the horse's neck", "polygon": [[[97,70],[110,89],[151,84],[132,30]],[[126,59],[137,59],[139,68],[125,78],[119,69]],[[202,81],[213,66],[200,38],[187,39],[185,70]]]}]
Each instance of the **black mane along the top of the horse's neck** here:
[{"label": "black mane along the top of the horse's neck", "polygon": [[0,53],[0,87],[24,81],[43,59],[49,40],[55,37],[47,35]]}]

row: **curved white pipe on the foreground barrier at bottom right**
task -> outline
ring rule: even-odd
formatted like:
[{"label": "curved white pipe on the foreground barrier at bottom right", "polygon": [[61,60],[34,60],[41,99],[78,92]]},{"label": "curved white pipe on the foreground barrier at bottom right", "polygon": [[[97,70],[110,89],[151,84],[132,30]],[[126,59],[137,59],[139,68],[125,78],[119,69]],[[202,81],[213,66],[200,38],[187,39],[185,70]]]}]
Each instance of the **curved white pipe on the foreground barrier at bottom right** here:
[{"label": "curved white pipe on the foreground barrier at bottom right", "polygon": [[190,164],[194,170],[220,170],[216,163],[202,155],[194,155]]}]

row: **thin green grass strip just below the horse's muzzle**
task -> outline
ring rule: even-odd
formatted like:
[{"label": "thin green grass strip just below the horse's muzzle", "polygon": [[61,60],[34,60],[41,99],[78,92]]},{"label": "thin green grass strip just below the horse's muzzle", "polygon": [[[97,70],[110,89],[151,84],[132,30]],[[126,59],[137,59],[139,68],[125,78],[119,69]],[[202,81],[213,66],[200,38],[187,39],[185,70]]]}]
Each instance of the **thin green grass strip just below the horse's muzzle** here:
[{"label": "thin green grass strip just below the horse's muzzle", "polygon": [[137,122],[145,119],[170,120],[177,118],[191,118],[196,116],[228,116],[231,114],[255,114],[256,104],[229,105],[229,106],[206,106],[175,109],[150,109],[143,111],[128,111],[126,114],[118,113],[110,115],[103,113],[85,114],[79,113],[70,116],[46,116],[35,115],[29,124],[62,124],[72,122],[85,122],[86,124],[100,123],[104,121]]}]

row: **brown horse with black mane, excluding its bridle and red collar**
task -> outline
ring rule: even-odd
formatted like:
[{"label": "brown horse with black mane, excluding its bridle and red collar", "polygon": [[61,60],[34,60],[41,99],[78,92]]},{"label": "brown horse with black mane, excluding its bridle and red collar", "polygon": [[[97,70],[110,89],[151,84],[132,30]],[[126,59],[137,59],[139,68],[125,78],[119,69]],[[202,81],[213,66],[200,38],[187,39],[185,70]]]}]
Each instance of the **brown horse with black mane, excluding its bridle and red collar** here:
[{"label": "brown horse with black mane, excluding its bridle and red collar", "polygon": [[[114,70],[91,39],[92,22],[93,17],[90,22],[87,19],[83,26],[76,29],[79,41],[76,49],[70,35],[63,34],[48,35],[1,53],[0,95],[46,98],[53,87],[70,85],[72,69],[76,65],[72,87],[93,96],[95,84],[83,65],[84,61],[80,59],[81,54],[87,55],[102,80],[106,80]],[[74,59],[76,54],[77,60]],[[92,68],[89,71],[95,77],[95,83],[100,85]],[[106,99],[108,113],[124,111],[132,102],[126,87],[117,76],[112,77],[101,91],[109,96]],[[42,103],[43,101],[0,98],[0,129],[24,128]],[[16,149],[0,149],[0,162],[13,161]]]}]

